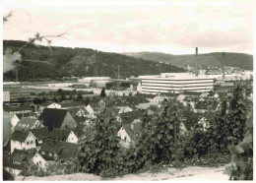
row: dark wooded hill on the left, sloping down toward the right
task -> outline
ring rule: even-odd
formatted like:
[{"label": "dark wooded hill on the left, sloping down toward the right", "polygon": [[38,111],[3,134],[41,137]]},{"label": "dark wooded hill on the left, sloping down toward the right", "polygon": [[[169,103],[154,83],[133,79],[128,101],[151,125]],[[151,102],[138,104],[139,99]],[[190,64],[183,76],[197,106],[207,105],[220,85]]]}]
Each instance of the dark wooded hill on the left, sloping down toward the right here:
[{"label": "dark wooded hill on the left, sloping down toward the right", "polygon": [[[4,50],[17,51],[26,41],[4,40]],[[120,78],[140,75],[156,75],[160,72],[184,72],[182,68],[170,64],[135,58],[123,54],[102,52],[89,48],[35,47],[29,44],[22,50],[22,64],[18,64],[19,81],[37,79],[56,79],[62,77],[107,76],[117,78],[118,66]],[[5,81],[15,80],[15,71],[4,74]]]}]

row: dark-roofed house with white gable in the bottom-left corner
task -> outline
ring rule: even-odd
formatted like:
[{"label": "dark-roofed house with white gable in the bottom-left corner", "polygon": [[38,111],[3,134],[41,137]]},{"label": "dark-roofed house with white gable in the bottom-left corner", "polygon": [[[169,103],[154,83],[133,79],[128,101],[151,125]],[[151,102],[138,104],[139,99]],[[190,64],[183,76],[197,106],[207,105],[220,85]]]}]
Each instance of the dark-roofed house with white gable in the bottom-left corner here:
[{"label": "dark-roofed house with white gable in the bottom-left corner", "polygon": [[5,168],[8,172],[14,175],[19,175],[30,162],[40,166],[41,168],[45,168],[47,165],[47,161],[35,150],[14,150],[9,157]]}]

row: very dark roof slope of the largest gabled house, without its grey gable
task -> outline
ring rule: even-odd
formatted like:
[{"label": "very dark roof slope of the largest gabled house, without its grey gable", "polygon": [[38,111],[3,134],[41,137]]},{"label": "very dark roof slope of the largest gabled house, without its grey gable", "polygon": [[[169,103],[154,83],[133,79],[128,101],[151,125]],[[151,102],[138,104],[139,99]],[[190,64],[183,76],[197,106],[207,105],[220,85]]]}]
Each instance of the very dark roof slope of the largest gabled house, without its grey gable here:
[{"label": "very dark roof slope of the largest gabled house, without its grey gable", "polygon": [[44,108],[40,119],[43,121],[43,124],[49,128],[60,128],[68,110],[57,109],[57,108]]}]

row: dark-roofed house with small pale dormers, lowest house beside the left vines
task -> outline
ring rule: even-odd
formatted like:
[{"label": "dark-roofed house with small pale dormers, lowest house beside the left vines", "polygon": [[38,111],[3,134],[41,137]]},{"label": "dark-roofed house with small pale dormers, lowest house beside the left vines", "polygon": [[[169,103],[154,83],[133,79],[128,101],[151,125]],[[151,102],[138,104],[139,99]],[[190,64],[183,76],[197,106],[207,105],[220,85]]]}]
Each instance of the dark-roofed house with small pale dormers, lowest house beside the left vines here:
[{"label": "dark-roofed house with small pale dormers, lowest house beside the left vines", "polygon": [[47,161],[54,161],[59,159],[70,159],[76,157],[78,152],[78,145],[74,143],[67,143],[62,141],[54,141],[52,139],[43,140],[39,154]]}]

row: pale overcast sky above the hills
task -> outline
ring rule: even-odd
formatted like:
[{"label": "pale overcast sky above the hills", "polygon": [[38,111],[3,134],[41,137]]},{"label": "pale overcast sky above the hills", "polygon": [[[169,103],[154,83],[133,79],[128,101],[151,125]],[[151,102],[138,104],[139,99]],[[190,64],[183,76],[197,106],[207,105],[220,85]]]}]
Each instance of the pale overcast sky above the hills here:
[{"label": "pale overcast sky above the hills", "polygon": [[52,45],[108,52],[253,53],[253,1],[3,1],[4,39],[58,34]]}]

